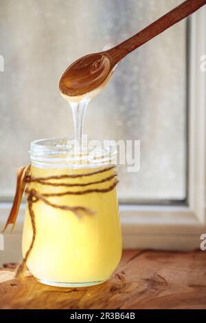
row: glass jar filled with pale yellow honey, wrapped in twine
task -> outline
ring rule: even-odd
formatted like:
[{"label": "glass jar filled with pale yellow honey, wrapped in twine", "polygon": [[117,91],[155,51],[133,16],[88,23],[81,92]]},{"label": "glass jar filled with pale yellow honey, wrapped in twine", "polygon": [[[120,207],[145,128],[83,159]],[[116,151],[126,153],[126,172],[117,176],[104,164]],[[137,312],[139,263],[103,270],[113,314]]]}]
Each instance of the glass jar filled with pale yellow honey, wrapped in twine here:
[{"label": "glass jar filled with pale yellow honey, wrapped in twine", "polygon": [[34,277],[61,287],[108,280],[122,255],[115,142],[31,143],[23,257]]}]

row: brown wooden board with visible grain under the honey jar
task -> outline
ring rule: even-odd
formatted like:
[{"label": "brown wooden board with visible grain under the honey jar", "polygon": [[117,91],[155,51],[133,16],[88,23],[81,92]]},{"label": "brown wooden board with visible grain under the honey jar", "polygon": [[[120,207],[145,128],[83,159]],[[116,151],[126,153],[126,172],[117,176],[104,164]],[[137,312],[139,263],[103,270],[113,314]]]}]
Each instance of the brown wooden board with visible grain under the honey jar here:
[{"label": "brown wooden board with visible grain under the honey jar", "polygon": [[124,251],[102,285],[57,288],[0,269],[1,309],[206,309],[206,252]]}]

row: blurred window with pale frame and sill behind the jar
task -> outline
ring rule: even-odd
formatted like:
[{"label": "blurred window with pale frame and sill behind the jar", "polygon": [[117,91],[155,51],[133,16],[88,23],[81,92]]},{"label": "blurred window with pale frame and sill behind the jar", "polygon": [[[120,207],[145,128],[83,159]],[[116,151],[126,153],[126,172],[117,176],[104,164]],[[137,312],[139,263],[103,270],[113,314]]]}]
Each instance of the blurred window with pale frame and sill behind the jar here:
[{"label": "blurred window with pale frame and sill behind the jar", "polygon": [[[32,140],[73,135],[71,109],[58,91],[65,67],[120,43],[181,2],[1,0],[1,201],[12,200],[16,168],[29,163]],[[89,137],[141,142],[139,172],[119,168],[126,247],[158,248],[164,241],[165,249],[190,249],[203,233],[205,30],[202,8],[126,57],[87,108]],[[1,210],[7,216],[8,204]]]}]

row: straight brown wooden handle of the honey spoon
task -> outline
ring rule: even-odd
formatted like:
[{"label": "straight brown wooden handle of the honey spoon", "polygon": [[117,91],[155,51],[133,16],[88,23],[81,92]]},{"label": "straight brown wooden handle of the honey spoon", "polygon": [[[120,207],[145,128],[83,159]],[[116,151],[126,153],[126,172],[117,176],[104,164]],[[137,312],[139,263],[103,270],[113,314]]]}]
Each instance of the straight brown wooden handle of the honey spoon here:
[{"label": "straight brown wooden handle of the honey spoon", "polygon": [[144,30],[141,30],[141,32],[138,32],[123,43],[106,51],[106,54],[108,54],[111,59],[111,63],[113,65],[117,64],[119,60],[124,58],[124,56],[130,52],[133,52],[133,50],[135,50],[137,47],[150,41],[150,39],[154,38],[155,36],[161,34],[161,32],[168,29],[175,23],[178,23],[186,16],[189,16],[198,10],[198,8],[205,5],[205,3],[206,0],[184,1],[181,3],[181,5],[178,5],[176,8],[157,19],[157,21],[148,25],[146,28],[144,28]]}]

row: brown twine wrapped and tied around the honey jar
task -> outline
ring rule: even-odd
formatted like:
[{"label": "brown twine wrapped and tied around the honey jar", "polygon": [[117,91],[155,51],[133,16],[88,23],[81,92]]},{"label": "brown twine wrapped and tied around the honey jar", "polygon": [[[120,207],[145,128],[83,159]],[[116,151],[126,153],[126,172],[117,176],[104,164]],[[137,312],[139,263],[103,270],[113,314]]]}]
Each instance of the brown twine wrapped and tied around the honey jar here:
[{"label": "brown twine wrapped and tied around the honey jar", "polygon": [[[30,214],[30,220],[32,223],[32,242],[30,244],[29,249],[27,250],[25,257],[23,258],[21,264],[17,267],[16,269],[16,277],[23,277],[23,272],[26,267],[26,263],[28,258],[30,257],[30,254],[32,252],[32,249],[34,247],[35,239],[36,239],[36,221],[35,221],[35,214],[33,210],[33,204],[37,203],[38,201],[42,201],[46,205],[49,205],[52,208],[57,208],[60,210],[65,210],[65,211],[71,211],[73,214],[76,214],[76,216],[80,217],[82,214],[87,214],[87,215],[93,215],[94,212],[93,210],[90,210],[89,208],[84,208],[82,206],[68,206],[68,205],[58,205],[56,203],[50,202],[47,198],[49,197],[62,197],[65,195],[82,195],[82,194],[90,194],[90,193],[106,193],[110,192],[117,186],[117,173],[115,172],[113,175],[105,177],[104,179],[101,179],[99,181],[91,181],[87,183],[76,183],[76,184],[71,184],[71,183],[52,183],[50,180],[52,179],[73,179],[73,178],[78,178],[78,177],[89,177],[91,175],[98,175],[100,173],[108,172],[108,170],[112,170],[115,168],[115,166],[107,166],[105,168],[101,168],[100,170],[95,170],[93,172],[86,172],[83,174],[76,174],[76,175],[59,175],[59,176],[49,176],[49,177],[32,177],[30,175],[30,166],[26,166],[25,168],[21,168],[21,170],[18,172],[17,175],[17,181],[16,181],[16,194],[14,197],[14,204],[12,207],[12,210],[10,212],[10,216],[8,217],[8,221],[5,224],[5,228],[8,226],[8,224],[15,224],[16,222],[16,216],[19,211],[19,205],[21,203],[21,198],[23,195],[23,192],[27,194],[27,203],[28,203],[28,210]],[[45,186],[55,186],[55,187],[74,187],[74,186],[90,186],[90,185],[95,185],[99,183],[105,183],[106,181],[111,181],[113,180],[113,183],[111,183],[108,188],[93,188],[93,189],[87,189],[87,190],[82,190],[75,192],[73,190],[66,190],[65,192],[58,192],[58,193],[43,193],[40,194],[37,190],[34,188],[29,189],[28,184],[29,183],[38,183],[41,185]],[[25,189],[27,185],[27,188]]]}]

